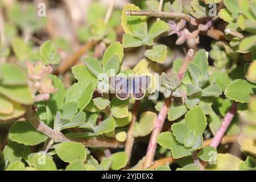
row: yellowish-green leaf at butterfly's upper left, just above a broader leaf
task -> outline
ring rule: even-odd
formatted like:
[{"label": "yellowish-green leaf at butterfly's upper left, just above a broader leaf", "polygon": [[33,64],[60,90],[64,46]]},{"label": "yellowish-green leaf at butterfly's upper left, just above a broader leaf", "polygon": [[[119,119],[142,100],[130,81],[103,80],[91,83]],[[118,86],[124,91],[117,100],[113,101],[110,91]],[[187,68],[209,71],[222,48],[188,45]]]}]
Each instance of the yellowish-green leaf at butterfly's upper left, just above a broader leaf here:
[{"label": "yellowish-green leaf at butterfly's upper left, just above a broader leaf", "polygon": [[94,76],[88,68],[85,67],[85,65],[75,65],[72,67],[72,73],[76,80],[82,82],[82,81],[89,81],[92,82],[94,85],[93,87],[96,87],[97,77]]}]

